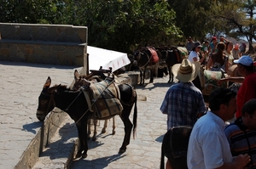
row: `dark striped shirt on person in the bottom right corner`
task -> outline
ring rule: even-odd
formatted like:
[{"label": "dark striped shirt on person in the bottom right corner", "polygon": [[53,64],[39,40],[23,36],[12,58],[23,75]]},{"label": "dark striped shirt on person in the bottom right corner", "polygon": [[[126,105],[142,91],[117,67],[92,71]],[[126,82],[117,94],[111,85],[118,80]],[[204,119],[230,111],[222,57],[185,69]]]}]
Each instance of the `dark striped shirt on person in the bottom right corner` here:
[{"label": "dark striped shirt on person in the bottom right corner", "polygon": [[[244,132],[246,130],[246,133]],[[247,129],[244,126],[241,117],[224,129],[225,135],[230,143],[230,150],[233,156],[248,154],[253,161],[253,167],[256,169],[256,131]],[[248,142],[250,146],[248,145]],[[249,148],[250,147],[250,148]],[[251,149],[251,151],[249,150]]]}]

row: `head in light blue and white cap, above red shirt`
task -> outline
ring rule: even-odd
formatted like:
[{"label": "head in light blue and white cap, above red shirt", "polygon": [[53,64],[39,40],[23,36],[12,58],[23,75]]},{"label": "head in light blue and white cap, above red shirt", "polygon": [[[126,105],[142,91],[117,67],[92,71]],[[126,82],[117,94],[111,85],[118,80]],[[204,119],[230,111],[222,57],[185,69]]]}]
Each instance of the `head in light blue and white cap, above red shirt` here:
[{"label": "head in light blue and white cap, above red shirt", "polygon": [[253,71],[253,59],[249,55],[243,55],[240,59],[235,59],[234,63],[237,64],[237,70],[240,75],[243,75],[245,71]]}]

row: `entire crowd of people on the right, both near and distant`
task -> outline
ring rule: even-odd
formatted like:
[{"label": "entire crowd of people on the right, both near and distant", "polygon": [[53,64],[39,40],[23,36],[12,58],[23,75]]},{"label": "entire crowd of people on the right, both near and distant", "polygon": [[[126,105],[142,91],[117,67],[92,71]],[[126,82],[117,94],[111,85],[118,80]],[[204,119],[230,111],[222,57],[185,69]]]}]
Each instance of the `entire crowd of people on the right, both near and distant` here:
[{"label": "entire crowd of people on the right, both near and distant", "polygon": [[[256,168],[256,72],[246,46],[233,44],[223,36],[211,42],[194,42],[188,38],[188,59],[173,65],[178,83],[172,85],[160,106],[167,115],[167,131],[172,127],[193,127],[189,137],[187,167],[194,168]],[[227,76],[218,81],[241,84],[219,87],[209,95],[208,108],[194,81],[201,65],[206,70],[227,71],[237,65],[240,76]],[[235,119],[230,124],[226,121]],[[172,168],[169,161],[166,169]],[[173,168],[175,169],[175,168]]]}]

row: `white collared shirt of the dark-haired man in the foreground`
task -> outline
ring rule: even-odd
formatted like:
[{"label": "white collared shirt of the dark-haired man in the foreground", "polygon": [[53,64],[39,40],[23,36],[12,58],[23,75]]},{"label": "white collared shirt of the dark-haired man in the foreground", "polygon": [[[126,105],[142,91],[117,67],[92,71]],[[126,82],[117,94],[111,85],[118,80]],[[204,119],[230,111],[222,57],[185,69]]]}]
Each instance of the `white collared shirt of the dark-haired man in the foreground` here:
[{"label": "white collared shirt of the dark-haired man in the foreground", "polygon": [[210,169],[233,161],[224,121],[211,111],[195,122],[189,138],[189,169]]}]

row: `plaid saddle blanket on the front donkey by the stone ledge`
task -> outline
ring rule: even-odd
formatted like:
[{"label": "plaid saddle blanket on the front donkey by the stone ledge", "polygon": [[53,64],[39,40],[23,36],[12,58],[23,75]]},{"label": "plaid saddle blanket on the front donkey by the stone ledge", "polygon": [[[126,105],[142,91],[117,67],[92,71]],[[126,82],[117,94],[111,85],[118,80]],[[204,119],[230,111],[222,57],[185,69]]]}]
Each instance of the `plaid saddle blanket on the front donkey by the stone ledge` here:
[{"label": "plaid saddle blanket on the front donkey by the stone ledge", "polygon": [[90,105],[90,111],[95,113],[96,118],[104,119],[122,112],[119,87],[114,82],[91,83],[89,91],[91,98],[87,92],[88,90],[84,91],[84,96],[87,104]]}]

